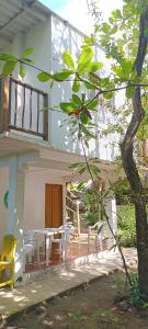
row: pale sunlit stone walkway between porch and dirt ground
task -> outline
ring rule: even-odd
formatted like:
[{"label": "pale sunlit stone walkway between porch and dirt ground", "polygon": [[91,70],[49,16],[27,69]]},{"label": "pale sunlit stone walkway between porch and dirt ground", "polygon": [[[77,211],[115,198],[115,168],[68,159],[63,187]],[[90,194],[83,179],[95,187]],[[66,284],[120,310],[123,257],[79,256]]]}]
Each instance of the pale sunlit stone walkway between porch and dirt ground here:
[{"label": "pale sunlit stone walkway between porch and dirt ground", "polygon": [[[136,250],[125,250],[127,263],[136,265]],[[11,291],[9,287],[0,290],[0,315],[2,319],[23,311],[45,299],[49,299],[67,290],[89,283],[92,280],[109,275],[122,270],[122,260],[118,252],[105,251],[91,259],[91,262],[76,264],[72,262],[67,266],[58,268],[46,274],[41,280],[27,283]]]}]

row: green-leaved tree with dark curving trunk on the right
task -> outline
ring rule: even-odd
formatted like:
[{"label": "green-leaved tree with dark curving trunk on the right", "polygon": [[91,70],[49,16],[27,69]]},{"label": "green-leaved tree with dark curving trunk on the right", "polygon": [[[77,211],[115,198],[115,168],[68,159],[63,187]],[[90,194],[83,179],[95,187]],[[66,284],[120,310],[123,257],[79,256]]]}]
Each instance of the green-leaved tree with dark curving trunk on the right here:
[{"label": "green-leaved tree with dark curving trunk on the right", "polygon": [[[93,59],[95,39],[112,63],[110,73],[105,77],[102,73],[103,64]],[[125,0],[123,12],[113,11],[109,22],[95,25],[94,34],[84,37],[77,61],[69,52],[65,52],[62,55],[65,68],[61,71],[50,73],[41,70],[37,78],[43,82],[50,81],[50,88],[56,81],[61,83],[69,79],[73,81],[70,100],[61,102],[59,106],[68,115],[71,134],[77,133],[83,147],[86,163],[76,163],[73,169],[77,168],[80,173],[83,173],[87,167],[92,180],[94,175],[99,177],[100,174],[96,167],[98,159],[88,161],[86,156],[86,147],[89,148],[89,140],[95,138],[94,127],[98,127],[93,123],[93,115],[98,105],[102,104],[102,99],[103,101],[112,100],[117,92],[125,90],[126,107],[128,106],[130,110],[130,121],[126,132],[123,132],[121,154],[135,205],[140,290],[148,299],[147,191],[143,186],[134,152],[138,131],[141,124],[148,124],[147,44],[148,0]],[[1,54],[0,59],[5,61],[3,73],[5,76],[11,73],[19,64],[20,75],[23,77],[24,65],[32,65],[29,59],[30,54],[32,54],[31,48],[23,54],[22,59]],[[93,98],[88,98],[87,92],[83,92],[83,86],[88,90],[94,90]]]}]

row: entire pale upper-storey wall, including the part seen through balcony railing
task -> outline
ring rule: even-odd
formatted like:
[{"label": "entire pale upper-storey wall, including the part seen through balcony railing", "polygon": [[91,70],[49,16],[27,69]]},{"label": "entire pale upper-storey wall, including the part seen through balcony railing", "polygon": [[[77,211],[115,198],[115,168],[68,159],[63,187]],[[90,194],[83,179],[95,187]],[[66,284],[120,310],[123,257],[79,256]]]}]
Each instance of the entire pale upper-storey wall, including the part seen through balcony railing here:
[{"label": "entire pale upper-storey wall, including the part seen through balcony railing", "polygon": [[[77,29],[57,15],[50,14],[44,22],[32,26],[27,32],[18,33],[12,43],[4,47],[3,53],[11,53],[21,57],[27,47],[33,47],[35,66],[44,71],[56,72],[64,67],[61,60],[64,50],[69,50],[75,58],[78,57],[82,38],[83,35]],[[101,60],[101,57],[103,57],[101,50],[95,47],[95,58]],[[11,126],[14,122],[18,126],[22,125],[23,122],[26,132],[37,129],[39,134],[36,135],[41,136],[39,138],[43,135],[44,137],[47,136],[48,129],[50,146],[82,154],[82,147],[78,140],[70,140],[69,138],[69,126],[65,124],[65,120],[68,117],[60,113],[59,109],[55,109],[59,102],[69,100],[71,97],[71,82],[55,83],[50,90],[48,83],[41,83],[37,80],[37,69],[26,66],[25,78],[22,82],[32,86],[33,89],[25,87],[24,90],[22,84],[15,83],[11,87]],[[14,71],[14,77],[20,79],[18,69]],[[39,93],[39,90],[44,93]],[[50,110],[45,114],[39,110],[47,104],[46,93],[48,94]],[[48,126],[46,124],[47,116]],[[94,121],[106,124],[109,120],[107,110],[99,109]],[[111,147],[109,144],[111,138],[109,137],[109,139],[105,137],[100,140],[91,140],[90,155],[100,159],[112,160],[114,158],[114,146]]]}]

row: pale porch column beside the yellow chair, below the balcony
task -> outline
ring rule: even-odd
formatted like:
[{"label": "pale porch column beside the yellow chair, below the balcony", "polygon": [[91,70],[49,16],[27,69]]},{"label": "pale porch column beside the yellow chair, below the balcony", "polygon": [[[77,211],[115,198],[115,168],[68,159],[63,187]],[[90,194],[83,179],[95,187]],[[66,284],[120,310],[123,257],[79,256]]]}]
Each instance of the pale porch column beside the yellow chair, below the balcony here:
[{"label": "pale porch column beside the yellow chair, below the balcony", "polygon": [[9,162],[9,206],[8,234],[18,240],[15,254],[15,280],[23,275],[23,215],[24,215],[24,171],[16,157]]}]

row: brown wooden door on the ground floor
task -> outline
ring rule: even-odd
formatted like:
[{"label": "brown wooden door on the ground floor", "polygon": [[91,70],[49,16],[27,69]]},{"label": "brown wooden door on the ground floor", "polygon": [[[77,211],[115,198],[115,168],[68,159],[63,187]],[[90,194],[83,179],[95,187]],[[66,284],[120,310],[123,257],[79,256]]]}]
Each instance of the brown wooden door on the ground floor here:
[{"label": "brown wooden door on the ground floor", "polygon": [[45,227],[62,225],[62,185],[46,184],[45,188]]}]

